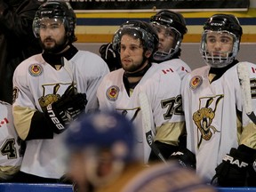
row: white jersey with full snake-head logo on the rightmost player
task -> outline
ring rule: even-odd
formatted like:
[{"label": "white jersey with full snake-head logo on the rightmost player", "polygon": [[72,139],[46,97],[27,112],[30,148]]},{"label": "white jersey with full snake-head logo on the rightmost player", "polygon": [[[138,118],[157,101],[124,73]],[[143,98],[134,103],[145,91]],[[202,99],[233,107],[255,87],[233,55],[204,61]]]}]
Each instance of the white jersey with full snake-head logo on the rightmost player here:
[{"label": "white jersey with full snake-head logo on the rightmost player", "polygon": [[[250,148],[256,146],[256,127],[244,111],[237,65],[229,68],[211,84],[208,66],[193,70],[182,81],[187,147],[196,154],[196,172],[208,182],[212,180],[215,168],[231,148],[237,148],[241,144]],[[251,81],[255,81],[256,66],[248,62],[247,65]],[[252,88],[254,87],[253,85]],[[256,100],[252,100],[252,105],[252,108],[256,108]],[[239,114],[243,124],[238,124]]]}]

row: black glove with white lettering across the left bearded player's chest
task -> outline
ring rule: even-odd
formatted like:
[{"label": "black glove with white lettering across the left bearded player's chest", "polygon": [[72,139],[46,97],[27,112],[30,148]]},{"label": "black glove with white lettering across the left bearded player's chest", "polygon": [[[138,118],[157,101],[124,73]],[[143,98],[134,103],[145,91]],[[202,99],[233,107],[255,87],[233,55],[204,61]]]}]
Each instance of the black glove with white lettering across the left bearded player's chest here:
[{"label": "black glove with white lettering across the left bearded player's chest", "polygon": [[77,93],[73,85],[68,87],[60,100],[48,105],[44,112],[50,120],[53,132],[60,134],[65,131],[67,125],[84,111],[86,104],[85,93]]}]

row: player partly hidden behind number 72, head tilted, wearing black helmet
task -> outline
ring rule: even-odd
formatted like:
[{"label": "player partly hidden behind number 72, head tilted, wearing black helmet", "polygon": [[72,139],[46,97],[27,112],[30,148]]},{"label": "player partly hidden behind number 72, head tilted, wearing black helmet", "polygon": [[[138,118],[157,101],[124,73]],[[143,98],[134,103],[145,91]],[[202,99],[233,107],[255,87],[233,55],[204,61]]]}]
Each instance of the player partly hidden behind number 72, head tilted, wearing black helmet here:
[{"label": "player partly hidden behind number 72, head tilted, wearing black helmet", "polygon": [[150,22],[156,28],[159,37],[158,50],[153,56],[154,61],[169,65],[183,78],[191,71],[188,64],[180,59],[180,44],[188,31],[185,19],[179,12],[162,10],[152,16]]}]

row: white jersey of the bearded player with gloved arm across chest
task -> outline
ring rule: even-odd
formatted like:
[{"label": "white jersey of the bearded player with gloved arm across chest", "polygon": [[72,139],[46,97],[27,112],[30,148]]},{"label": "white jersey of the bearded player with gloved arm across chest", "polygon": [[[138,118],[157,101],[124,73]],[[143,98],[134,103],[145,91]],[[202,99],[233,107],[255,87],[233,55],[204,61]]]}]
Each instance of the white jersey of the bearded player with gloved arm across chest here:
[{"label": "white jersey of the bearded player with gloved arm across chest", "polygon": [[[20,137],[26,140],[34,112],[43,112],[42,108],[60,97],[70,84],[76,85],[77,92],[86,93],[86,112],[97,109],[96,90],[108,72],[104,60],[92,52],[76,52],[71,60],[65,59],[60,70],[46,63],[42,54],[24,60],[13,76],[13,117]],[[28,140],[20,170],[59,179],[65,172],[65,164],[61,161],[64,133],[54,134],[52,140]]]}]

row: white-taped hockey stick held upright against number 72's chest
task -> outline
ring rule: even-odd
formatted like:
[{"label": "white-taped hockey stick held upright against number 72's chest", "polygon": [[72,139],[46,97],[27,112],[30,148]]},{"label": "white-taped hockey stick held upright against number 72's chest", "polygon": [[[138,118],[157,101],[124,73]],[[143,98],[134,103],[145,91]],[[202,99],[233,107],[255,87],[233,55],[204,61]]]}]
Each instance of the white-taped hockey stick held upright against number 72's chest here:
[{"label": "white-taped hockey stick held upright against number 72's chest", "polygon": [[148,102],[148,96],[145,92],[139,93],[139,101],[140,101],[140,109],[142,114],[142,126],[144,131],[146,132],[146,139],[148,142],[149,147],[153,150],[153,152],[158,156],[160,160],[162,160],[165,164],[166,161],[164,159],[164,156],[161,154],[160,150],[156,147],[156,144],[153,140],[152,132],[151,132],[151,108],[149,106]]}]

